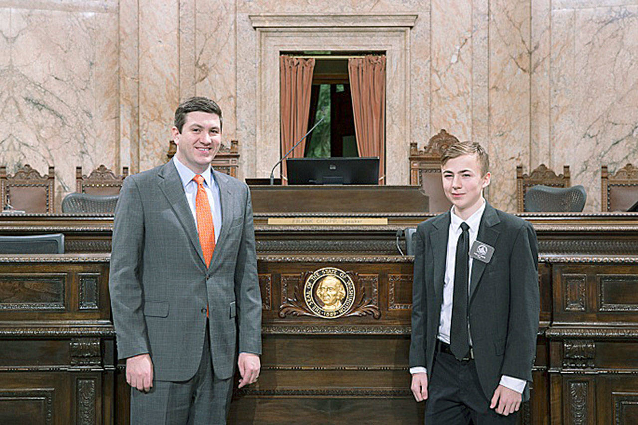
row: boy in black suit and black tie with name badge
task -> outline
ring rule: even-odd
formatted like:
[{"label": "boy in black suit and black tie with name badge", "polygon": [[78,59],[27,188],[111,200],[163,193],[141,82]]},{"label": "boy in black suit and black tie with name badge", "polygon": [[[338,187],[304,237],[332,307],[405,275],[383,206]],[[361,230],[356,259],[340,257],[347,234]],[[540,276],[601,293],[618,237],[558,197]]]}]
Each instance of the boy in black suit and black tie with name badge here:
[{"label": "boy in black suit and black tie with name badge", "polygon": [[426,424],[516,422],[536,352],[538,244],[529,222],[483,198],[478,143],[441,157],[449,212],[415,233],[410,373]]}]

